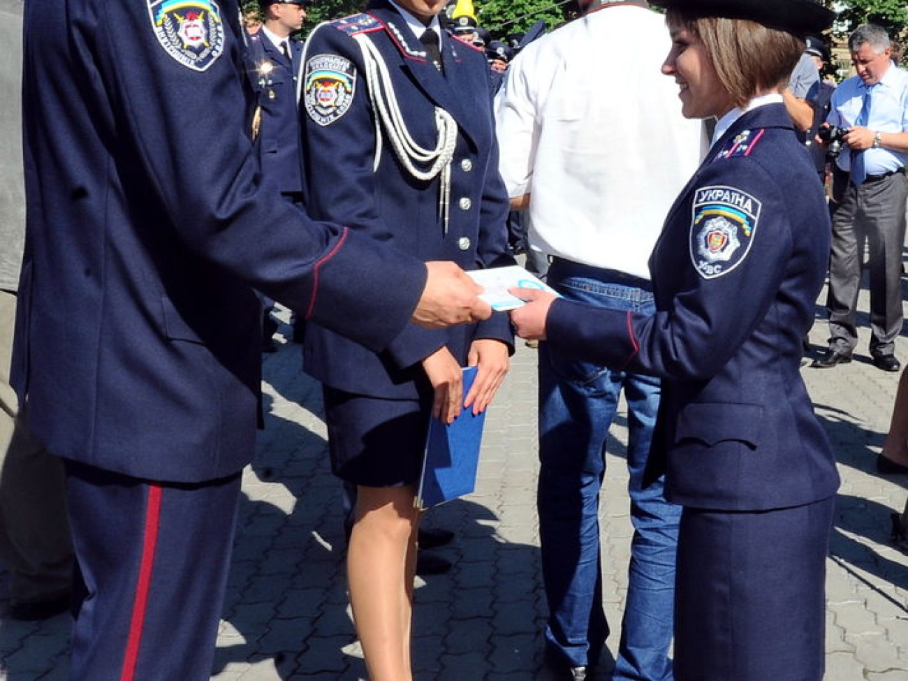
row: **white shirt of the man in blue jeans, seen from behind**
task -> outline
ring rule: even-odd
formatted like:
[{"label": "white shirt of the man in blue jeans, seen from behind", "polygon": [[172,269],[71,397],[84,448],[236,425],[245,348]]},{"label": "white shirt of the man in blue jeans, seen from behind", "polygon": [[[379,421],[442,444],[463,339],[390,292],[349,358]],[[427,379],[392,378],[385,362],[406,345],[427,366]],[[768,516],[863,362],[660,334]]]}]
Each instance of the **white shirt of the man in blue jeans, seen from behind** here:
[{"label": "white shirt of the man in blue jeans, seen from behind", "polygon": [[660,71],[664,17],[610,5],[528,44],[496,98],[501,175],[530,193],[529,242],[649,279],[666,213],[705,152]]}]

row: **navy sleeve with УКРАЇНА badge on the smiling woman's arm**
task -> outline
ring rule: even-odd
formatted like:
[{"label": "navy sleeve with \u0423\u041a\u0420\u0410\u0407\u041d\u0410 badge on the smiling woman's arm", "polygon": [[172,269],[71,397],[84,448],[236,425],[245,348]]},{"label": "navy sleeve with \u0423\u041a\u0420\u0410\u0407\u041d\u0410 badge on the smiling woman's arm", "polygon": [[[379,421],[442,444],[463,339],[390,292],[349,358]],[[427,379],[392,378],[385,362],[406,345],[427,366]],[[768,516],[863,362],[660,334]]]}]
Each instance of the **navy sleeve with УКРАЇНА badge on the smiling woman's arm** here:
[{"label": "navy sleeve with \u0423\u041a\u0420\u0410\u0407\u041d\u0410 badge on the smiling woman's arm", "polygon": [[[715,192],[706,193],[710,189]],[[691,212],[675,212],[666,225],[663,239],[676,248],[672,262],[653,261],[682,268],[666,275],[682,282],[668,309],[647,318],[555,301],[546,330],[554,350],[671,380],[705,380],[725,367],[779,291],[792,251],[791,225],[780,188],[747,159],[707,168],[696,196],[704,201],[695,198]],[[740,211],[723,214],[735,204]],[[723,239],[736,241],[733,251]]]}]

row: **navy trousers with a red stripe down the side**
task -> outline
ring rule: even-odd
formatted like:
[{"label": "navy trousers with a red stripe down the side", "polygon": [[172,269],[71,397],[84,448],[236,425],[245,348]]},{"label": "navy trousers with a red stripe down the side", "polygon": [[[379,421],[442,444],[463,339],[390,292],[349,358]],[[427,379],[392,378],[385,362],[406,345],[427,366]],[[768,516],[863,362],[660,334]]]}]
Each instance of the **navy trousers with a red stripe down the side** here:
[{"label": "navy trousers with a red stripe down the side", "polygon": [[240,474],[156,483],[66,462],[72,681],[208,681]]}]

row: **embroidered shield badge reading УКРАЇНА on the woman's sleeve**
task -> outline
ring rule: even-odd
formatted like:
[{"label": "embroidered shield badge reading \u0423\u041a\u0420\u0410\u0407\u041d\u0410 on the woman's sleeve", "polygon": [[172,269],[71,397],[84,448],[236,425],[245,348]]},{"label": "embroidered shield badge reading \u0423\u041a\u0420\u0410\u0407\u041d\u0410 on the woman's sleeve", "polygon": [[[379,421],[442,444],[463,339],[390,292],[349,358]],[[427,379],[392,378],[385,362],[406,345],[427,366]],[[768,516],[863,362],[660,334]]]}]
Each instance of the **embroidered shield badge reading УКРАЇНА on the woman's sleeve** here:
[{"label": "embroidered shield badge reading \u0423\u041a\u0420\u0410\u0407\u041d\u0410 on the woman's sleeve", "polygon": [[763,203],[735,187],[696,190],[690,257],[704,279],[716,279],[744,262]]}]

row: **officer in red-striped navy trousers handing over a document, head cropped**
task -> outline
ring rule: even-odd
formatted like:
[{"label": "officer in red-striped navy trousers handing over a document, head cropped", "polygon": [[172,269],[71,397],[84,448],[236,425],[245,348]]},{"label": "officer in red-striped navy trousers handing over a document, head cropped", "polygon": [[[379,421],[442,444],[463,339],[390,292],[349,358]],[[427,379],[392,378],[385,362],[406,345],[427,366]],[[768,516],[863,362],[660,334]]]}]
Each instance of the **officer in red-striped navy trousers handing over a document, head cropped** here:
[{"label": "officer in red-striped navy trousers handing over a document, head cropped", "polygon": [[65,460],[73,681],[211,675],[255,448],[253,289],[376,351],[410,320],[491,313],[452,263],[281,202],[250,142],[242,31],[216,0],[25,5],[12,379]]}]

